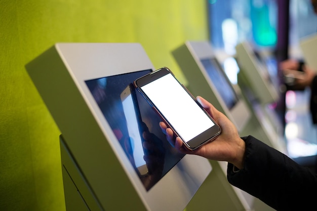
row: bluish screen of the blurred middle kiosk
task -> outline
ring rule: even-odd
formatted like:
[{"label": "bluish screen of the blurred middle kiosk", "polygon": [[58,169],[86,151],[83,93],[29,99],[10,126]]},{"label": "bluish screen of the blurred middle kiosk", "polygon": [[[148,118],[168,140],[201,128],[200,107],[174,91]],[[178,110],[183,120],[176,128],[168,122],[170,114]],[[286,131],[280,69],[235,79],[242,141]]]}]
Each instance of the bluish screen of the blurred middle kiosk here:
[{"label": "bluish screen of the blurred middle kiosk", "polygon": [[236,96],[230,81],[227,79],[226,75],[224,75],[224,71],[221,70],[220,64],[215,59],[202,59],[201,62],[227,108],[233,108],[238,101],[238,97]]}]

